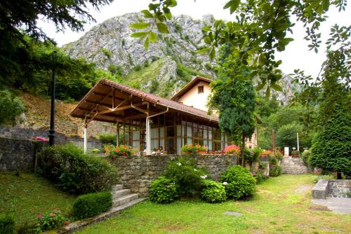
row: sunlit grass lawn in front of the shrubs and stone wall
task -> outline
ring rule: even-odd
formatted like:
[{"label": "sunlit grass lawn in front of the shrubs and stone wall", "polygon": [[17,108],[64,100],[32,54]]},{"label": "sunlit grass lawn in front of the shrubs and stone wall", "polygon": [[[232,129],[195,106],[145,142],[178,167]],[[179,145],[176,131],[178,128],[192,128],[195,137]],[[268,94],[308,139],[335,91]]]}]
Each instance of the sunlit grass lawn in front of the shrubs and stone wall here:
[{"label": "sunlit grass lawn in front of the shrubs and stone wall", "polygon": [[311,203],[311,192],[303,188],[312,185],[312,175],[282,175],[260,184],[247,201],[141,202],[79,233],[351,233],[351,215]]}]

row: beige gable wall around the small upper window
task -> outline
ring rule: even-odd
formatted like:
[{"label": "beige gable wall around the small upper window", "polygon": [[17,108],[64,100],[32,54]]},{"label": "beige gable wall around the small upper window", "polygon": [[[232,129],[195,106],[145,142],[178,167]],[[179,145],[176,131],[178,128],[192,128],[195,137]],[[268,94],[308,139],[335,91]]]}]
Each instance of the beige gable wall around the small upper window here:
[{"label": "beige gable wall around the small upper window", "polygon": [[[204,92],[197,93],[197,87],[201,85],[204,85]],[[191,90],[187,91],[185,95],[180,97],[178,102],[183,102],[183,104],[187,106],[192,106],[202,111],[207,111],[206,103],[210,92],[210,85],[201,81],[197,85],[195,85]]]}]

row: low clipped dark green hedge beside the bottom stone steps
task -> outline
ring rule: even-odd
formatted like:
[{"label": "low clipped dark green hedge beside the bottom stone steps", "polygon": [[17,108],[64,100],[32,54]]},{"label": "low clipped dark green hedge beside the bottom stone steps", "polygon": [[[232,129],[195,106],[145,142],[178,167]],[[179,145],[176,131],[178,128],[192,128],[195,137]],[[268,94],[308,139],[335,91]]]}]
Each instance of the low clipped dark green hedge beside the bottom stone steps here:
[{"label": "low clipped dark green hedge beside the bottom stone steps", "polygon": [[84,219],[106,212],[111,207],[112,194],[110,191],[88,193],[80,195],[74,201],[72,216],[74,219]]}]

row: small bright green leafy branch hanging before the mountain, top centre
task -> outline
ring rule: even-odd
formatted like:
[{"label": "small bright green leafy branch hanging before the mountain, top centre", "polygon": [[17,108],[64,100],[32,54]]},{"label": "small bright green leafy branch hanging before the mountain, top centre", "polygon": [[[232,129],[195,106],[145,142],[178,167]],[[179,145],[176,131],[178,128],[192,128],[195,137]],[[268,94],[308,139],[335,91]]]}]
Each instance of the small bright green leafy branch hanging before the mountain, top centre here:
[{"label": "small bright green leafy branch hanging before the mountain, top centre", "polygon": [[170,7],[177,6],[176,0],[159,0],[159,4],[149,4],[149,10],[143,10],[144,17],[150,19],[150,22],[136,22],[129,27],[137,30],[144,30],[143,32],[135,32],[131,37],[138,38],[139,41],[144,40],[144,47],[149,48],[150,42],[157,41],[157,34],[154,33],[155,27],[161,34],[168,34],[168,26],[164,23],[166,20],[172,19]]}]

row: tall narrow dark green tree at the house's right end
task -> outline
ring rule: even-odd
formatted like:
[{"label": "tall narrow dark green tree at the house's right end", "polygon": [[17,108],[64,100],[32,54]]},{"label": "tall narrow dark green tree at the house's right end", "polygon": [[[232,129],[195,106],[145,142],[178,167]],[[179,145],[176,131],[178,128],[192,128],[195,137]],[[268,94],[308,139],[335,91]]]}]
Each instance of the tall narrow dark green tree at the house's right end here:
[{"label": "tall narrow dark green tree at the house's right end", "polygon": [[241,139],[241,152],[246,138],[251,137],[256,127],[253,114],[256,92],[251,79],[233,76],[233,64],[226,58],[227,48],[222,48],[223,60],[219,62],[218,78],[211,83],[210,109],[219,111],[219,125],[227,135]]}]

